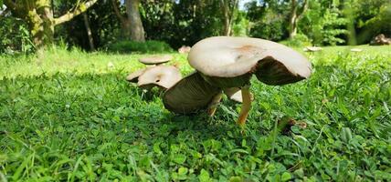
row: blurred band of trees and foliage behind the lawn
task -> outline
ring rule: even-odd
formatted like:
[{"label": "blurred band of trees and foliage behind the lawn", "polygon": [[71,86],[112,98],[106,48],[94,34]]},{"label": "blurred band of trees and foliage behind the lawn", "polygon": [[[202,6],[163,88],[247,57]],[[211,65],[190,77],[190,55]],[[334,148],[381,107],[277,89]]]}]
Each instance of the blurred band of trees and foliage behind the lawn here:
[{"label": "blurred band of trees and foliage behind the lawn", "polygon": [[177,49],[214,35],[291,46],[362,45],[391,36],[390,0],[0,0],[0,6],[2,54],[49,44]]}]

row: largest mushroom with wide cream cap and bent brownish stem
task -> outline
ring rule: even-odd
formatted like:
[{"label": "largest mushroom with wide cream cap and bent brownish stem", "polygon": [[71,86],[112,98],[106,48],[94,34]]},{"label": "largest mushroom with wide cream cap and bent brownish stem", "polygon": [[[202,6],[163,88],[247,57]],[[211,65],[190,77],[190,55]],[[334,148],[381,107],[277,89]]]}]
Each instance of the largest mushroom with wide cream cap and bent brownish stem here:
[{"label": "largest mushroom with wide cream cap and bent brownish stem", "polygon": [[259,38],[209,37],[196,43],[187,58],[211,86],[241,88],[239,126],[245,125],[251,108],[249,81],[253,74],[268,85],[294,83],[311,75],[311,63],[300,53]]}]

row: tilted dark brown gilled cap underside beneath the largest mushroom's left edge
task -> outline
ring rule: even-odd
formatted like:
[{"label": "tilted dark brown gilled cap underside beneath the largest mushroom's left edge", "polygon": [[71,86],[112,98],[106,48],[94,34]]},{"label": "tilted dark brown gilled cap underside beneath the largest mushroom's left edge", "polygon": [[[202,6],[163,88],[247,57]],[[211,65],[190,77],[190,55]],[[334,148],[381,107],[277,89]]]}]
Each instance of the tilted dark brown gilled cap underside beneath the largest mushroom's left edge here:
[{"label": "tilted dark brown gilled cap underside beneath the largest mushroom's left edge", "polygon": [[184,77],[168,88],[163,96],[165,108],[174,113],[194,113],[206,109],[221,89],[208,84],[198,72]]}]

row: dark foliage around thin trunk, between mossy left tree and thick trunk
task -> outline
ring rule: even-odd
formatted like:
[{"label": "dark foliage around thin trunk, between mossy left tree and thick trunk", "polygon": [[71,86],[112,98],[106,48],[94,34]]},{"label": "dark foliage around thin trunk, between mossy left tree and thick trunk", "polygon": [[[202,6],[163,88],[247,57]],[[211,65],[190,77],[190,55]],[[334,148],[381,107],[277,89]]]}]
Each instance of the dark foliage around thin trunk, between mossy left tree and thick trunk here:
[{"label": "dark foliage around thin trunk, between mossy left tree and thick trunk", "polygon": [[[78,2],[79,0],[55,0],[56,16],[67,13]],[[99,1],[91,6],[86,14],[88,15],[95,47],[104,47],[124,38],[121,36],[121,22],[112,10],[111,0]],[[56,26],[56,36],[57,40],[64,40],[68,45],[76,45],[86,50],[90,49],[82,15],[74,17],[72,21],[66,24]]]}]

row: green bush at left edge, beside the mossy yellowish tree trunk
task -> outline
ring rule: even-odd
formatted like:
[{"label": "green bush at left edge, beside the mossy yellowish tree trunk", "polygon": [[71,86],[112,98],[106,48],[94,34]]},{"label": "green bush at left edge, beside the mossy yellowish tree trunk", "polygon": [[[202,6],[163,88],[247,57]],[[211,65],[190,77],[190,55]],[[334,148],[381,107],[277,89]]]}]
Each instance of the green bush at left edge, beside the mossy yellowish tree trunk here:
[{"label": "green bush at left edge, beside the mossy yellowish tree trunk", "polygon": [[29,53],[34,50],[26,23],[12,16],[0,17],[0,54]]}]

